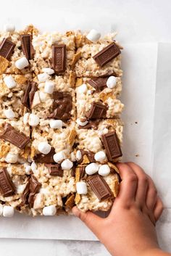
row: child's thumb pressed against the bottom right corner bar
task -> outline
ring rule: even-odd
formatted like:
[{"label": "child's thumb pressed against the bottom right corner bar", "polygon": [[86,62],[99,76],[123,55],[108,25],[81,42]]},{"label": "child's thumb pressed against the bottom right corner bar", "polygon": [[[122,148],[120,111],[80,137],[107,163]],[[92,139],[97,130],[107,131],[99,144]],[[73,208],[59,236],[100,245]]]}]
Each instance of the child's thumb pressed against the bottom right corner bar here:
[{"label": "child's thumb pressed against the bottom right corner bar", "polygon": [[103,218],[97,216],[91,211],[82,212],[76,206],[72,208],[72,213],[76,217],[80,218],[80,220],[82,220],[83,223],[85,223],[86,226],[88,226],[88,228],[91,229],[93,234],[99,236],[99,234],[101,233],[102,226],[104,225]]}]

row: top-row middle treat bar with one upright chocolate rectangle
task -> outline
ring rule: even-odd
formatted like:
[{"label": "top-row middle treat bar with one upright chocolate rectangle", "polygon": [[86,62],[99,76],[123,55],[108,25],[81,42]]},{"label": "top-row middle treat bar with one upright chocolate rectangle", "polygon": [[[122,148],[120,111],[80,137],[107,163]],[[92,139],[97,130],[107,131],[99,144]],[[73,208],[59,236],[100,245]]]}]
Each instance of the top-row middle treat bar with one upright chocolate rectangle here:
[{"label": "top-row middle treat bar with one upright chocolate rectangle", "polygon": [[75,34],[43,33],[33,36],[35,56],[33,72],[42,73],[43,68],[52,68],[57,75],[69,73],[75,65]]}]

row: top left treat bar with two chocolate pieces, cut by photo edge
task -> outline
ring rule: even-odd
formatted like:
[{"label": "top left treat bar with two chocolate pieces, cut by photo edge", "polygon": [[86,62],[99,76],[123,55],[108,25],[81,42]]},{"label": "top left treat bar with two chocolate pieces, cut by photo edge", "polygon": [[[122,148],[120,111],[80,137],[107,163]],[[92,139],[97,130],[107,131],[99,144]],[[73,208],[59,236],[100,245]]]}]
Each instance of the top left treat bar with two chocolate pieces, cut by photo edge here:
[{"label": "top left treat bar with two chocolate pieces, cut by photo edge", "polygon": [[30,73],[33,57],[32,37],[38,30],[29,25],[22,31],[0,32],[0,74]]}]

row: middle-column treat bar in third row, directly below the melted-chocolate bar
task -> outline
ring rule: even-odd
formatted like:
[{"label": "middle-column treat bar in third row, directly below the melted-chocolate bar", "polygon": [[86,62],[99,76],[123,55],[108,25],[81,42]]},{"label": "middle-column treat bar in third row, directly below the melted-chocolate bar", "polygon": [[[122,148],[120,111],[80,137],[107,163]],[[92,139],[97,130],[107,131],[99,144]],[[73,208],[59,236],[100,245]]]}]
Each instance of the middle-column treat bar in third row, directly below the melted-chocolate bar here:
[{"label": "middle-column treat bar in third row, directly below the melted-chocolate bar", "polygon": [[[54,128],[53,122],[54,120],[41,118],[40,123],[33,128],[31,158],[36,162],[55,163],[54,154],[56,153],[59,153],[59,161],[56,160],[59,163],[66,158],[71,160],[72,146],[75,143],[76,136],[75,122],[63,123],[59,120],[58,128],[57,126]],[[40,147],[42,142],[51,146],[49,154],[43,154]]]}]

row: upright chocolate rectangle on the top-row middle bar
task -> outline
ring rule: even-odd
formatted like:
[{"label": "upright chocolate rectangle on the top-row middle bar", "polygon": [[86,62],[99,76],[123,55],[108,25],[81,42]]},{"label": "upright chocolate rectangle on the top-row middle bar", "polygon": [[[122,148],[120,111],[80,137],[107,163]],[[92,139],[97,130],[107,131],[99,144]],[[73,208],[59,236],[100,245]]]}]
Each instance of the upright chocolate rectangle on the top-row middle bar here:
[{"label": "upright chocolate rectangle on the top-row middle bar", "polygon": [[52,67],[56,74],[64,73],[66,68],[65,44],[54,44],[52,46]]}]

